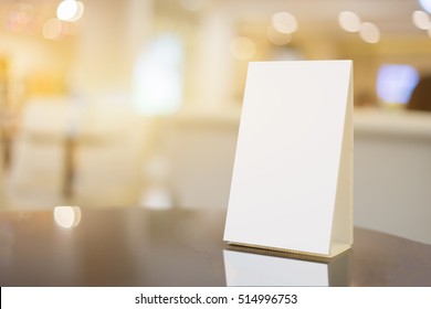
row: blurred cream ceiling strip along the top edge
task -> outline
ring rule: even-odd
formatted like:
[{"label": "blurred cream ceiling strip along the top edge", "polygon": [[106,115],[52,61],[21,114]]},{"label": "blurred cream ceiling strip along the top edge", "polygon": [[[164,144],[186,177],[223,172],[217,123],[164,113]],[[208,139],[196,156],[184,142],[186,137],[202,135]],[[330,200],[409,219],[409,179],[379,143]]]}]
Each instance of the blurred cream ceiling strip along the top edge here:
[{"label": "blurred cream ceiling strip along the top edge", "polygon": [[[99,12],[94,8],[104,8],[104,12],[118,9],[123,0],[81,0],[88,11],[86,17]],[[385,38],[417,36],[429,39],[427,31],[419,30],[412,22],[412,12],[421,10],[419,0],[127,0],[128,2],[153,1],[155,7],[169,8],[176,15],[193,10],[196,17],[204,17],[208,12],[218,11],[225,15],[246,22],[269,22],[272,14],[286,11],[296,17],[298,32],[347,35],[338,25],[338,13],[356,12],[362,22],[375,23]],[[30,4],[36,22],[42,24],[55,15],[56,6],[61,0],[1,0],[0,17],[4,19],[17,6]],[[29,6],[28,6],[29,7]],[[28,8],[27,7],[27,8]],[[147,7],[148,8],[148,7]],[[21,8],[22,9],[22,8]],[[182,10],[182,12],[181,12]],[[189,12],[190,13],[190,12]],[[189,15],[189,14],[187,14]],[[40,28],[40,25],[39,25]]]}]

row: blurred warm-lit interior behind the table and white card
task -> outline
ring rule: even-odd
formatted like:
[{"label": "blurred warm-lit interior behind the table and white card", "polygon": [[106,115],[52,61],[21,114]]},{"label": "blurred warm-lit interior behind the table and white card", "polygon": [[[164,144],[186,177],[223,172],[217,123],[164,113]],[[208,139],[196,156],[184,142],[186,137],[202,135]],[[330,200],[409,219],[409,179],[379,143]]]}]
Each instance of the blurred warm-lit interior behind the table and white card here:
[{"label": "blurred warm-lit interior behind the table and white card", "polygon": [[225,209],[248,62],[349,58],[355,223],[431,243],[430,12],[425,0],[1,0],[0,210]]}]

